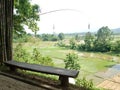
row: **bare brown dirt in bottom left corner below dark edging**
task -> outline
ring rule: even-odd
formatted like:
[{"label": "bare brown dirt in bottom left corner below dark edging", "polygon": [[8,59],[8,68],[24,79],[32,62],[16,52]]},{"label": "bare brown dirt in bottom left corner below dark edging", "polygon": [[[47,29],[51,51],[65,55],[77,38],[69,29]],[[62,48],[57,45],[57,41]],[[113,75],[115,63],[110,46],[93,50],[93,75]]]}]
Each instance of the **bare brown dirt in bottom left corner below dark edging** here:
[{"label": "bare brown dirt in bottom left corner below dark edging", "polygon": [[16,79],[0,75],[0,90],[46,90]]}]

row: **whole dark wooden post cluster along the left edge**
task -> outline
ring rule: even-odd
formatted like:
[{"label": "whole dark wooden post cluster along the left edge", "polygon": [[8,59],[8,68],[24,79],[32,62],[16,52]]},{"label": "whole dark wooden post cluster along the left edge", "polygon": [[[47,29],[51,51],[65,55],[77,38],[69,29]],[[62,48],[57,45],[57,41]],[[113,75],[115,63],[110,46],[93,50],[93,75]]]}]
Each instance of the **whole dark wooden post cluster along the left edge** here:
[{"label": "whole dark wooden post cluster along the left edge", "polygon": [[0,63],[12,60],[13,1],[0,0]]}]

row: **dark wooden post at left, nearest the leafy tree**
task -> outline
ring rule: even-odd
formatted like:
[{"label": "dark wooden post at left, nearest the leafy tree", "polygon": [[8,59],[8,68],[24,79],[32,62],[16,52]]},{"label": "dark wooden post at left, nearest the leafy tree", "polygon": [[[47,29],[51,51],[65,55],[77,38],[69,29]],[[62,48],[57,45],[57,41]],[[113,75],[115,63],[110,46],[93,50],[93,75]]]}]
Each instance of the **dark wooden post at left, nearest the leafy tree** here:
[{"label": "dark wooden post at left, nearest the leafy tree", "polygon": [[6,0],[6,54],[7,60],[12,60],[12,31],[13,31],[13,1]]}]

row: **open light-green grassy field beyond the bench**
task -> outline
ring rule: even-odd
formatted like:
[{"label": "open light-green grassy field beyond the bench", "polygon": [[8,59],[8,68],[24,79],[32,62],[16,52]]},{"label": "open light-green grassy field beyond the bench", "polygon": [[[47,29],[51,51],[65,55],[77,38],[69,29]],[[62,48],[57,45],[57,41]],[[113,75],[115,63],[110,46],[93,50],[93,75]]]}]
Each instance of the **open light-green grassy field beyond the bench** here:
[{"label": "open light-green grassy field beyond the bench", "polygon": [[[81,66],[79,77],[94,76],[95,73],[106,71],[108,68],[120,62],[120,57],[106,53],[83,52],[61,48],[56,46],[57,42],[36,42],[23,43],[23,47],[32,53],[33,48],[37,48],[42,55],[49,56],[53,59],[55,67],[64,68],[64,59],[66,54],[74,52],[79,56]],[[14,48],[17,43],[14,43]]]}]

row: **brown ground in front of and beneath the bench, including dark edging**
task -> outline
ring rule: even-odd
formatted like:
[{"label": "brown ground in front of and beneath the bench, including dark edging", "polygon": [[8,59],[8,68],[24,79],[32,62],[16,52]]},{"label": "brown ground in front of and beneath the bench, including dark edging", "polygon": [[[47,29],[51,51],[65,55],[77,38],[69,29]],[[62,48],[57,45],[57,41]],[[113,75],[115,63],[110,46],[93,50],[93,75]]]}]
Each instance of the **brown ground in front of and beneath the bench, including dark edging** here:
[{"label": "brown ground in front of and beneath the bench, including dark edging", "polygon": [[61,87],[58,81],[49,78],[9,73],[0,72],[0,90],[80,90],[71,84],[69,87]]}]

